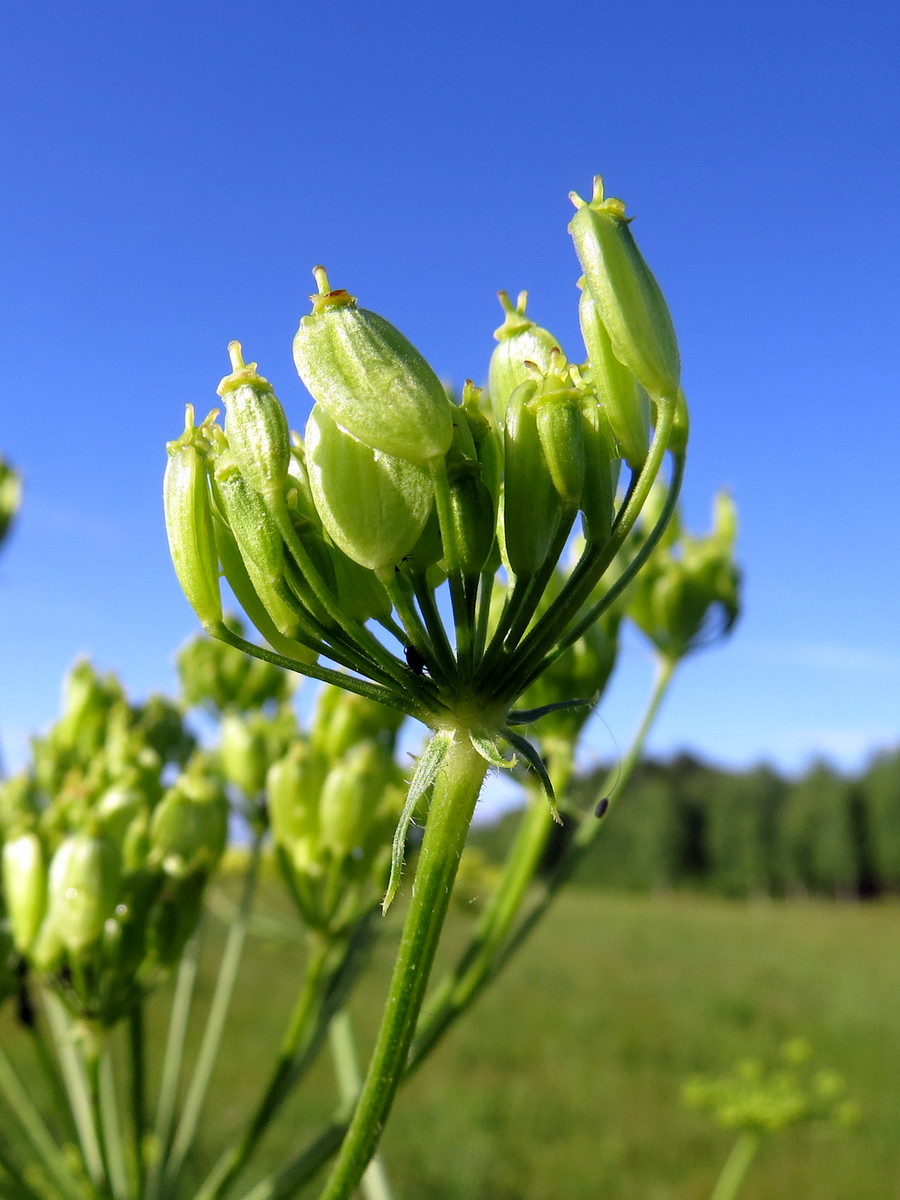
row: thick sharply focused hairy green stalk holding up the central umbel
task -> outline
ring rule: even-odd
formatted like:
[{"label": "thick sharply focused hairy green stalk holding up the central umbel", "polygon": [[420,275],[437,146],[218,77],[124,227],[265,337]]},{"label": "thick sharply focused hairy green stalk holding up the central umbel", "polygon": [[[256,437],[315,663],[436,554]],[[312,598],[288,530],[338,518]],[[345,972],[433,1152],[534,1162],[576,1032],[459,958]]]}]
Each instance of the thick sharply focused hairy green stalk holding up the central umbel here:
[{"label": "thick sharply focused hairy green stalk holding up the central umbel", "polygon": [[374,1153],[400,1086],[487,763],[457,730],[434,781],[425,838],[382,1026],[322,1200],[348,1200]]}]

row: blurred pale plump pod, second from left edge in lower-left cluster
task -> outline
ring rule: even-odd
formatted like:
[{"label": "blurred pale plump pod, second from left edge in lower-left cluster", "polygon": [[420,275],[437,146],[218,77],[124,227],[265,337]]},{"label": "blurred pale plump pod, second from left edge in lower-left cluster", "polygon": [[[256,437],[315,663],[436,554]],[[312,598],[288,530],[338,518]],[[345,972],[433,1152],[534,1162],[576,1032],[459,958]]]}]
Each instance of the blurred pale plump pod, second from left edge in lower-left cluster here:
[{"label": "blurred pale plump pod, second from left edge in lower-left cluster", "polygon": [[70,834],[50,862],[47,920],[72,954],[98,940],[115,912],[121,856],[110,838]]}]

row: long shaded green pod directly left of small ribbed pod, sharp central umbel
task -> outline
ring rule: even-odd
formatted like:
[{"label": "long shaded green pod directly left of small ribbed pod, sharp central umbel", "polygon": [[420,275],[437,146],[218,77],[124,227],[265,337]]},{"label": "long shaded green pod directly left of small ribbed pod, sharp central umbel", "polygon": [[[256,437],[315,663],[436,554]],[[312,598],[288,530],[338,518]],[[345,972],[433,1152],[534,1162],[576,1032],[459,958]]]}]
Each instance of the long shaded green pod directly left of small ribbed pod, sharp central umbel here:
[{"label": "long shaded green pod directly left of small ribbed pod, sharp central umbel", "polygon": [[559,494],[544,458],[538,418],[528,403],[538,391],[534,379],[510,397],[504,436],[504,553],[516,576],[534,575],[547,557],[559,524]]}]

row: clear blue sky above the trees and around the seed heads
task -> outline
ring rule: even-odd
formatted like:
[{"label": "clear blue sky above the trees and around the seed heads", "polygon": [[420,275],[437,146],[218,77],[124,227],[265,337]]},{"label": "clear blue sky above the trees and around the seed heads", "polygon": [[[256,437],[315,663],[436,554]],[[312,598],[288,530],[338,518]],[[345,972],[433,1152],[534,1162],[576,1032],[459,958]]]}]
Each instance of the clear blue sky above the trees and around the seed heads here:
[{"label": "clear blue sky above the trees and around the seed heads", "polygon": [[[690,524],[730,486],[746,610],[650,746],[847,767],[900,738],[894,2],[11,6],[4,18],[0,737],[77,653],[170,689],[196,628],[160,487],[239,337],[302,427],[290,338],[324,262],[443,376],[496,290],[577,350],[566,193],[636,217],[682,342]],[[604,709],[626,742],[629,641]],[[596,750],[611,752],[598,730]]]}]

